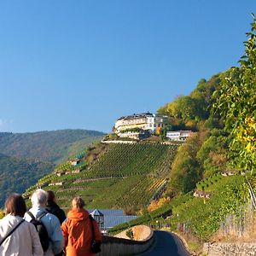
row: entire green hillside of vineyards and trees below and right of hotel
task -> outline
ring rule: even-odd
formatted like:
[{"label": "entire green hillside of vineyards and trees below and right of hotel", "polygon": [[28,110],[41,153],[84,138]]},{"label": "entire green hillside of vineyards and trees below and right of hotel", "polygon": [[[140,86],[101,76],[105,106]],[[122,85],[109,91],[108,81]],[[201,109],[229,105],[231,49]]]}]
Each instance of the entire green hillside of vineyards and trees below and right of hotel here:
[{"label": "entire green hillside of vineyards and trees below and right of hotel", "polygon": [[[254,17],[251,26],[241,67],[201,79],[189,96],[159,109],[172,131],[196,131],[181,146],[101,144],[78,154],[79,166],[66,162],[40,179],[42,187],[55,190],[65,208],[74,195],[81,195],[87,207],[143,210],[141,218],[113,232],[136,224],[164,227],[188,239],[197,252],[205,241],[255,241]],[[160,199],[166,201],[157,205]],[[153,211],[148,207],[152,201],[158,207]]]}]

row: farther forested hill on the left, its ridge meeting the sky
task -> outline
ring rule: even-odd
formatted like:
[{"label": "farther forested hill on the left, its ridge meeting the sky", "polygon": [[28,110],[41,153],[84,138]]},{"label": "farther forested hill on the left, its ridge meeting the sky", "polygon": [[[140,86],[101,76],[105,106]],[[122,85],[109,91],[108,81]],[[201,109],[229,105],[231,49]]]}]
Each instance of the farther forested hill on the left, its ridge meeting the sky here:
[{"label": "farther forested hill on the left, its ridge meeting the sky", "polygon": [[20,159],[58,163],[83,150],[90,143],[101,140],[103,136],[104,133],[100,131],[79,129],[32,133],[0,132],[0,152]]}]

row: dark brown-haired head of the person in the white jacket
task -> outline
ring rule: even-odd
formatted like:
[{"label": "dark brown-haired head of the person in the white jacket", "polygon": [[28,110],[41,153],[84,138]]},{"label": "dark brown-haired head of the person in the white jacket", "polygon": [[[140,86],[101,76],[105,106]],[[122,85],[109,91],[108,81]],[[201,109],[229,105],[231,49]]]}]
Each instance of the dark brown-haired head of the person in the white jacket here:
[{"label": "dark brown-haired head of the person in the white jacket", "polygon": [[5,201],[5,212],[23,218],[26,212],[26,203],[23,197],[16,193],[9,195]]}]

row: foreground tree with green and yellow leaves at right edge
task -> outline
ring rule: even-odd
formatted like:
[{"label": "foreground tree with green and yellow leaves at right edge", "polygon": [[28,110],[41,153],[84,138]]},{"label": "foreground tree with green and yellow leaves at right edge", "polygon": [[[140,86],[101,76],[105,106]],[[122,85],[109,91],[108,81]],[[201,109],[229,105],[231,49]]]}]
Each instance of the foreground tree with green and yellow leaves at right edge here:
[{"label": "foreground tree with green and yellow leaves at right edge", "polygon": [[244,42],[240,68],[224,74],[220,90],[215,92],[215,111],[224,119],[230,133],[230,159],[233,166],[256,171],[256,19]]}]

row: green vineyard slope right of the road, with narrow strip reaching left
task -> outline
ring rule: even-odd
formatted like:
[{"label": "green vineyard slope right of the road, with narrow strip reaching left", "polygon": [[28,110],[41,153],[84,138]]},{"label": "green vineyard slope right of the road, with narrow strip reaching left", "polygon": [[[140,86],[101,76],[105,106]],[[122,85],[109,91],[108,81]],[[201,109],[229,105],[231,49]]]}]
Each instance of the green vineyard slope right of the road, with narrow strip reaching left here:
[{"label": "green vineyard slope right of the road, with narrow strip reaching left", "polygon": [[[250,182],[255,188],[256,178],[250,177]],[[210,191],[210,199],[193,197],[190,192],[187,195],[178,196],[170,203],[141,218],[116,226],[110,231],[118,233],[133,225],[155,226],[157,223],[161,227],[179,230],[196,236],[201,241],[207,241],[221,225],[224,225],[228,214],[240,216],[241,207],[245,202],[250,201],[246,177],[239,174],[230,177],[213,175],[198,183],[197,188]]]}]

